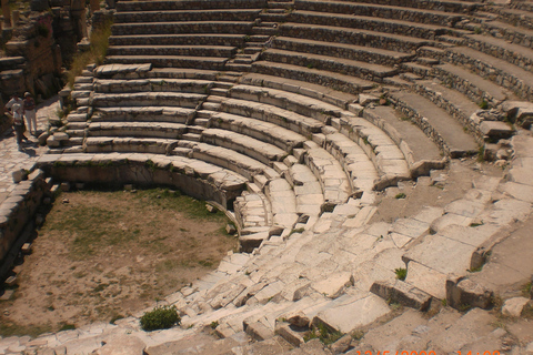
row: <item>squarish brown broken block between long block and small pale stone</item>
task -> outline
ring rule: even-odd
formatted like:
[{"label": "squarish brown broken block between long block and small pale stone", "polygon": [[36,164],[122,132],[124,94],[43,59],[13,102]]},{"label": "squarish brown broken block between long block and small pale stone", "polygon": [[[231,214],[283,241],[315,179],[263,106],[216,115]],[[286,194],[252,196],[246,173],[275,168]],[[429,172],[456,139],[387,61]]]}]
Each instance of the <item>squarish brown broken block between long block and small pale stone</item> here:
[{"label": "squarish brown broken block between long block and small pale stone", "polygon": [[494,293],[469,278],[449,277],[446,280],[446,301],[451,307],[462,310],[466,306],[486,310],[492,306]]}]

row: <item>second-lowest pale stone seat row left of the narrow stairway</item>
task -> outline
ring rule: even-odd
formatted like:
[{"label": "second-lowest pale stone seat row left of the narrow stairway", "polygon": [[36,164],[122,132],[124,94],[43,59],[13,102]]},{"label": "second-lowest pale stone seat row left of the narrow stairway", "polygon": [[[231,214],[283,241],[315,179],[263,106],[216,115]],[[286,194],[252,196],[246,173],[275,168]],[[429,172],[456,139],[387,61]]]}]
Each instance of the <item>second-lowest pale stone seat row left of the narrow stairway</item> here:
[{"label": "second-lowest pale stone seat row left of the narrow stairway", "polygon": [[92,122],[88,126],[88,136],[134,136],[180,139],[188,128],[181,123],[169,122]]}]

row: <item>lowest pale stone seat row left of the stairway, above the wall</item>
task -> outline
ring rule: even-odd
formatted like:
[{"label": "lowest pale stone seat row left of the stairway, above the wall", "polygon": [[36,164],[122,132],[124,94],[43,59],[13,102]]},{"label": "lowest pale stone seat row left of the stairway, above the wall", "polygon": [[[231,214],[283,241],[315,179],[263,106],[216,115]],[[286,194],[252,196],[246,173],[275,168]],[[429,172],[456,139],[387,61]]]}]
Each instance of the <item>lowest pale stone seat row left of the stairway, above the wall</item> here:
[{"label": "lowest pale stone seat row left of the stairway, above the wall", "polygon": [[87,153],[151,153],[167,154],[178,145],[177,140],[157,138],[89,136],[86,139]]}]

